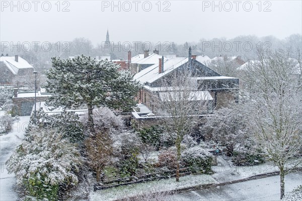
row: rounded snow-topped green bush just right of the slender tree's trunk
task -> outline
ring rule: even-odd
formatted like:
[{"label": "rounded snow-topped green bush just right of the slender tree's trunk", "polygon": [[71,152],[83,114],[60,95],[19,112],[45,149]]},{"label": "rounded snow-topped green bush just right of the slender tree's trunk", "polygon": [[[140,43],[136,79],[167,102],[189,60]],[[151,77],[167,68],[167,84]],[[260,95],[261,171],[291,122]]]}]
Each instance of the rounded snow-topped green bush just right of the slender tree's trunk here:
[{"label": "rounded snow-topped green bush just right of the slender tree's trunk", "polygon": [[212,155],[201,147],[192,147],[185,150],[182,155],[182,161],[186,167],[192,170],[197,168],[202,173],[211,173]]}]

